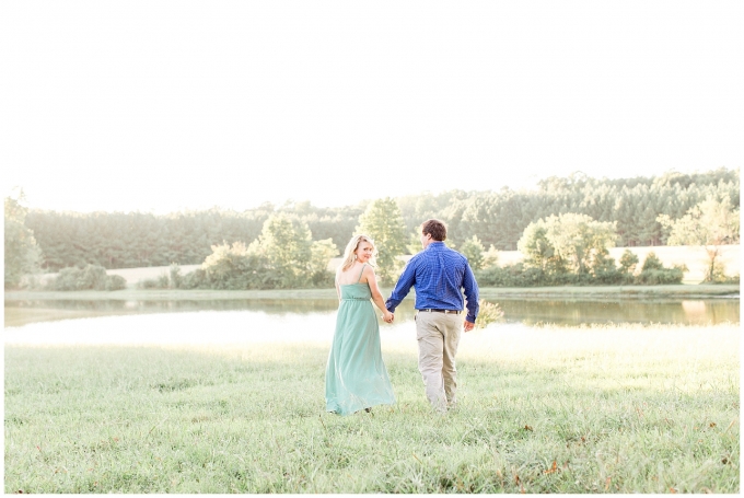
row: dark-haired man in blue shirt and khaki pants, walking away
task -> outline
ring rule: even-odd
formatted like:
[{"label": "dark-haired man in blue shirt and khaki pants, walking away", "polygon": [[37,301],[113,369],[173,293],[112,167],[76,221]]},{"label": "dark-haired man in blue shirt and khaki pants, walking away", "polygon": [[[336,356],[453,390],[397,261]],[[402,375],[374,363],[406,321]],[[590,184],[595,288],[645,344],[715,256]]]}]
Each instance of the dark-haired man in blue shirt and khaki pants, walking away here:
[{"label": "dark-haired man in blue shirt and khaki pants, walking away", "polygon": [[[469,332],[478,316],[478,283],[467,258],[444,245],[446,225],[440,220],[421,223],[423,251],[410,258],[385,302],[391,313],[416,288],[416,337],[419,371],[427,398],[439,413],[455,406],[455,355],[461,331]],[[467,316],[463,291],[467,299]]]}]

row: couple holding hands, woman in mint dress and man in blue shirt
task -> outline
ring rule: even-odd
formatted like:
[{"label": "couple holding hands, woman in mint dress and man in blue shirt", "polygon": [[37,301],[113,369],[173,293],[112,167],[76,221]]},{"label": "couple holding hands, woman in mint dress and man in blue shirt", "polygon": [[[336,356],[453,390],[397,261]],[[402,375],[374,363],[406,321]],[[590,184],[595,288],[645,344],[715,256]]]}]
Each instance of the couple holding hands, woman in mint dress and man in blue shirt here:
[{"label": "couple holding hands, woman in mint dress and man in blue shirt", "polygon": [[[478,285],[467,258],[444,245],[446,225],[427,220],[420,225],[423,251],[410,258],[390,299],[383,301],[374,275],[374,243],[354,235],[336,271],[339,306],[326,366],[326,410],[350,415],[395,403],[380,347],[380,327],[370,299],[392,323],[395,309],[416,288],[418,367],[432,408],[446,413],[456,404],[455,355],[461,332],[469,332],[478,315]],[[467,315],[463,320],[467,300]]]}]

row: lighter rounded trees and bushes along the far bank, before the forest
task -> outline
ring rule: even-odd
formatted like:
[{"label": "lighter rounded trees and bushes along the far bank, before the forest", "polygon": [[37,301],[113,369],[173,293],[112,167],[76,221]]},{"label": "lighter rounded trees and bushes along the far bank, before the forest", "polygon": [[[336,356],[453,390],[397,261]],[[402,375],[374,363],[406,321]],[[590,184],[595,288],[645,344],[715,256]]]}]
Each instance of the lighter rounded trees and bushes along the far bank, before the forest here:
[{"label": "lighter rounded trees and bushes along the far bank, before the forest", "polygon": [[[739,209],[730,199],[709,197],[687,213],[672,220],[664,215],[659,221],[667,229],[672,244],[702,245],[711,251],[723,243],[739,242]],[[533,287],[556,285],[660,285],[681,283],[686,267],[666,268],[650,253],[640,268],[639,258],[626,248],[619,265],[609,256],[619,234],[615,221],[596,221],[588,215],[567,212],[551,215],[530,223],[518,242],[524,260],[499,265],[499,252],[488,251],[473,235],[460,251],[468,258],[476,279],[489,287]],[[384,285],[393,285],[406,251],[406,227],[398,204],[386,197],[371,202],[359,217],[354,233],[372,236],[379,252],[377,275]],[[333,287],[328,260],[338,254],[330,240],[313,241],[307,224],[292,221],[287,215],[271,215],[261,234],[249,245],[233,243],[213,245],[201,268],[181,275],[177,265],[170,275],[140,282],[144,288],[171,289],[277,289]],[[421,250],[410,241],[410,252]],[[723,267],[716,263],[716,251],[706,280],[728,281]],[[737,279],[736,279],[737,281]]]}]

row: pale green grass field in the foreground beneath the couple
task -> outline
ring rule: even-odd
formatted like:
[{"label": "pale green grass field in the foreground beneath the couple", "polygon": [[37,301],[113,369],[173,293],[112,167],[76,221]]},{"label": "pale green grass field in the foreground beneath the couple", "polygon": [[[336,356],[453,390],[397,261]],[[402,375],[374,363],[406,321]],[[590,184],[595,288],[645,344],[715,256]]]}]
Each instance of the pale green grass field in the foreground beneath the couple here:
[{"label": "pale green grass field in the foreground beneath the couple", "polygon": [[432,414],[324,412],[328,344],[5,346],[5,493],[739,493],[739,324],[491,326]]}]

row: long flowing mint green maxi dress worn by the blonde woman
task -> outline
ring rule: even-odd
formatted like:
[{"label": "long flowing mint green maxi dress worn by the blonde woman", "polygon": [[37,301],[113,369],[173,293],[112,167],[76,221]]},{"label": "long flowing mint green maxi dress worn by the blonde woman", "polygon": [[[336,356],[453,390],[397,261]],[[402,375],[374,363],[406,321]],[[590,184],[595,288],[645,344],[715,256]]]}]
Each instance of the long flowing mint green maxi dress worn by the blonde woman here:
[{"label": "long flowing mint green maxi dress worn by the blonde woman", "polygon": [[372,291],[369,283],[360,283],[359,279],[357,283],[340,286],[341,302],[326,366],[326,410],[339,415],[395,403],[380,350],[380,326],[370,301]]}]

